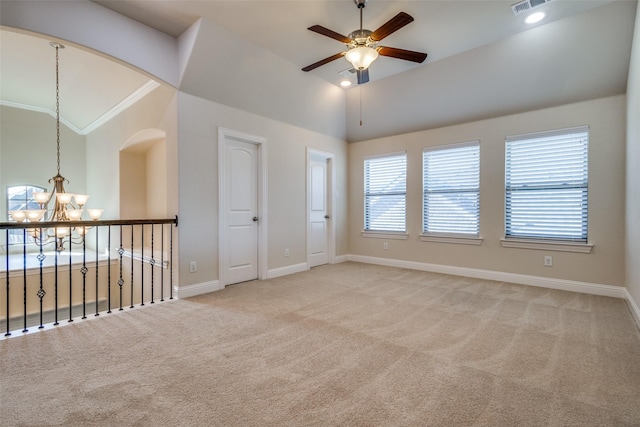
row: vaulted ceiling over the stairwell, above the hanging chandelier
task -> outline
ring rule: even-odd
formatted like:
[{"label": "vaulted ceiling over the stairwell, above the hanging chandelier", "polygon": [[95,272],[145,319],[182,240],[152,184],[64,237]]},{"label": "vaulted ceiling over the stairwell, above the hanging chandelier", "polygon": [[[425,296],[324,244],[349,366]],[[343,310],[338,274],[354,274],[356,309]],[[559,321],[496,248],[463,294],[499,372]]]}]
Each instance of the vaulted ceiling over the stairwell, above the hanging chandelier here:
[{"label": "vaulted ceiling over the stairwell, above the hanging chandelier", "polygon": [[[56,114],[56,51],[46,37],[0,30],[0,103]],[[67,45],[59,49],[60,120],[86,135],[158,86],[125,65]]]}]

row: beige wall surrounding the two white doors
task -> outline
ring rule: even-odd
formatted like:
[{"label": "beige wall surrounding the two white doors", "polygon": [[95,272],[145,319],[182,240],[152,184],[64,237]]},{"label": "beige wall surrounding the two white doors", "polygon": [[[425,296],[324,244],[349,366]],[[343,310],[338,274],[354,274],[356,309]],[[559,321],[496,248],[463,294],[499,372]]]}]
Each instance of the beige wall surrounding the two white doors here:
[{"label": "beige wall surrounding the two white doors", "polygon": [[[268,269],[306,262],[306,150],[335,154],[336,253],[347,253],[346,142],[180,93],[180,284],[218,279],[218,128],[266,138]],[[289,248],[290,256],[284,256]],[[198,271],[188,273],[196,261]],[[184,272],[184,273],[182,273]]]}]

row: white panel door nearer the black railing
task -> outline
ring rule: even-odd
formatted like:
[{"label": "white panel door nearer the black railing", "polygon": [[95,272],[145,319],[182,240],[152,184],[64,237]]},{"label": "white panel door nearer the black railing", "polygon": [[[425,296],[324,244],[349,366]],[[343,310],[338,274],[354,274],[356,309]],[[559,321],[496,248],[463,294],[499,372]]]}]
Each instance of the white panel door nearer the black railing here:
[{"label": "white panel door nearer the black railing", "polygon": [[226,153],[226,284],[258,278],[258,148],[229,140]]}]

